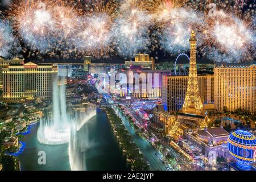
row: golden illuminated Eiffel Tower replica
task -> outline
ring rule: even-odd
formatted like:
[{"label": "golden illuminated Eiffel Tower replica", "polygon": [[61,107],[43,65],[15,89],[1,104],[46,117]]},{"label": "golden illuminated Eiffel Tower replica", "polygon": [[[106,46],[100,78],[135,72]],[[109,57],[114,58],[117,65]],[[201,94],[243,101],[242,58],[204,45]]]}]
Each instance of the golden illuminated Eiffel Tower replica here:
[{"label": "golden illuminated Eiffel Tower replica", "polygon": [[192,30],[190,44],[190,63],[188,75],[188,88],[185,101],[181,110],[178,111],[178,121],[196,127],[207,127],[207,113],[203,109],[200,97],[197,68],[196,68],[196,35]]}]

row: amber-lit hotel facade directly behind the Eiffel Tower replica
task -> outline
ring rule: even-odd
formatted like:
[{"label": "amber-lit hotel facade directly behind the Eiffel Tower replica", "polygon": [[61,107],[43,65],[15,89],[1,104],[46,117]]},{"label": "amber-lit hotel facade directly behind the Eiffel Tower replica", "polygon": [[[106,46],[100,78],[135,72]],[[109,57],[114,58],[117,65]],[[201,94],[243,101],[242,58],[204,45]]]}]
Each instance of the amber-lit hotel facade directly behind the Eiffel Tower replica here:
[{"label": "amber-lit hotel facade directly behind the Eiffel Tower replica", "polygon": [[[205,109],[214,108],[214,76],[200,75],[198,85],[200,97]],[[184,104],[188,88],[188,76],[163,76],[162,103],[164,109],[171,112],[180,110]]]}]

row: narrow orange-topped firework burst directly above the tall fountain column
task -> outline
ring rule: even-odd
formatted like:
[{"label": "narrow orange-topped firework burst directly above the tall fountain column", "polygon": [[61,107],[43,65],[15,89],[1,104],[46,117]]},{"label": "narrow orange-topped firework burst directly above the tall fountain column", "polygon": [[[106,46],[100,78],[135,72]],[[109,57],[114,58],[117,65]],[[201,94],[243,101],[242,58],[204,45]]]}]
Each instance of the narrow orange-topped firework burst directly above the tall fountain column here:
[{"label": "narrow orange-topped firework burst directly above the tall fountain column", "polygon": [[52,42],[53,51],[48,54],[53,57],[60,55],[63,58],[77,57],[75,46],[77,32],[82,28],[82,11],[74,2],[56,1],[52,7],[52,16],[55,22]]}]

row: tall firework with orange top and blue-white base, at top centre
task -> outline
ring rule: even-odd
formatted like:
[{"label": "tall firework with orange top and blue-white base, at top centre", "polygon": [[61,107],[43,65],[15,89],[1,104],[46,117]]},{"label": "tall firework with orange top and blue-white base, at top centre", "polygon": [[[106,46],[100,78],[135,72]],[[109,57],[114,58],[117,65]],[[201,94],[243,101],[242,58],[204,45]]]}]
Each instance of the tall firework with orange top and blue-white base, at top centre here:
[{"label": "tall firework with orange top and blue-white base, at top centre", "polygon": [[121,3],[112,34],[119,55],[131,58],[139,51],[146,51],[150,44],[151,15],[146,10],[145,1],[125,0]]}]

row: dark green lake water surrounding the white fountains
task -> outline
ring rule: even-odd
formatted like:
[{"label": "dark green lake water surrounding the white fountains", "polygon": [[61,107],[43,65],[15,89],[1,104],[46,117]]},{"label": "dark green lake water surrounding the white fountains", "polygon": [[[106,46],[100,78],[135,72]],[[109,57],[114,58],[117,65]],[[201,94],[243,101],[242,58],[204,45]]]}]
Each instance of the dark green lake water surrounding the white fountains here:
[{"label": "dark green lake water surrounding the white fountains", "polygon": [[[39,125],[32,127],[31,133],[21,139],[26,143],[23,153],[18,156],[21,169],[71,170],[68,144],[48,146],[39,143],[36,138],[38,127]],[[97,111],[97,115],[77,131],[77,136],[79,140],[88,142],[86,146],[89,147],[77,156],[85,164],[86,170],[127,170],[126,159],[103,111]],[[39,151],[46,152],[46,165],[38,164]]]}]

